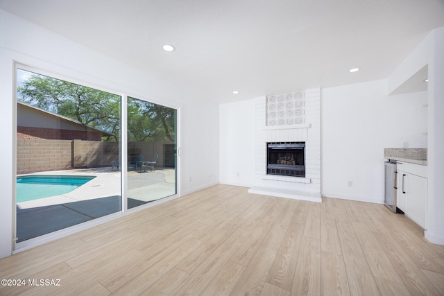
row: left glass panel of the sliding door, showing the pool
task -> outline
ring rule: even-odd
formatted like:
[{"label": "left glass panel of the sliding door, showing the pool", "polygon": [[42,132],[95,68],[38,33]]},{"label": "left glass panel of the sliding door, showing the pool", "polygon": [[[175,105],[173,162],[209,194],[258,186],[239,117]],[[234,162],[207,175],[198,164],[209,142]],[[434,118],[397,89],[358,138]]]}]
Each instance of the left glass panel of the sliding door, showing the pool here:
[{"label": "left glass panel of the sliding door, showing the pool", "polygon": [[121,211],[121,96],[17,69],[17,243]]}]

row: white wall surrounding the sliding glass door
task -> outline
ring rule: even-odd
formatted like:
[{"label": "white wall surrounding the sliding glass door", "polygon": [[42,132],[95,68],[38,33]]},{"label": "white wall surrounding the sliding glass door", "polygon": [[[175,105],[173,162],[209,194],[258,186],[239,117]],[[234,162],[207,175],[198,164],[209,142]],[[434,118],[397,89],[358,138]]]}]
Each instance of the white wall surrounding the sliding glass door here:
[{"label": "white wall surrounding the sliding glass door", "polygon": [[[182,108],[182,193],[210,186],[218,180],[217,105],[200,105],[199,101],[205,101],[205,98],[158,80],[155,73],[129,67],[3,10],[0,10],[0,35],[0,123],[4,143],[0,146],[0,258],[11,254],[14,237],[14,61],[65,76],[83,85],[126,92],[153,103]],[[214,150],[202,150],[204,142],[205,146]],[[184,182],[183,176],[192,176],[192,182]]]}]

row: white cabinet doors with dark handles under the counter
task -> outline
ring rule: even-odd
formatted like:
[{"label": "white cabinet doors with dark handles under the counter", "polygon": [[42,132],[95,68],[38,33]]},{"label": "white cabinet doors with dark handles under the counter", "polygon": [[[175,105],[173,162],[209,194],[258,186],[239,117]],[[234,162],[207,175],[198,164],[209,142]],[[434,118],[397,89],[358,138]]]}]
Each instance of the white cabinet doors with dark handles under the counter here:
[{"label": "white cabinet doors with dark handles under the counter", "polygon": [[427,166],[398,163],[398,190],[396,206],[405,216],[426,229]]}]

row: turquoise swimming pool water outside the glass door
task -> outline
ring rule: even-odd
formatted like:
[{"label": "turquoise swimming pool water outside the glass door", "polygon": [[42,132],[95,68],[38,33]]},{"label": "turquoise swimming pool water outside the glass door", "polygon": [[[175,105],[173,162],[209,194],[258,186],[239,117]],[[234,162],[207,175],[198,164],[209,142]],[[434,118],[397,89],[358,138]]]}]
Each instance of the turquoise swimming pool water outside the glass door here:
[{"label": "turquoise swimming pool water outside the glass door", "polygon": [[65,194],[95,177],[66,175],[32,175],[17,177],[17,202],[38,200]]}]

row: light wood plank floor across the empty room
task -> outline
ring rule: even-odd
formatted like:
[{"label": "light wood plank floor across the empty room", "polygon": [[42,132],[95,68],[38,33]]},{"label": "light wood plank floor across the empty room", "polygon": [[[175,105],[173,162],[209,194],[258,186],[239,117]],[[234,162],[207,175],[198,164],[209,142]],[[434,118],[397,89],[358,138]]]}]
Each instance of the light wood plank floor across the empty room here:
[{"label": "light wood plank floor across the empty room", "polygon": [[216,185],[0,260],[0,295],[443,295],[444,247],[381,204]]}]

